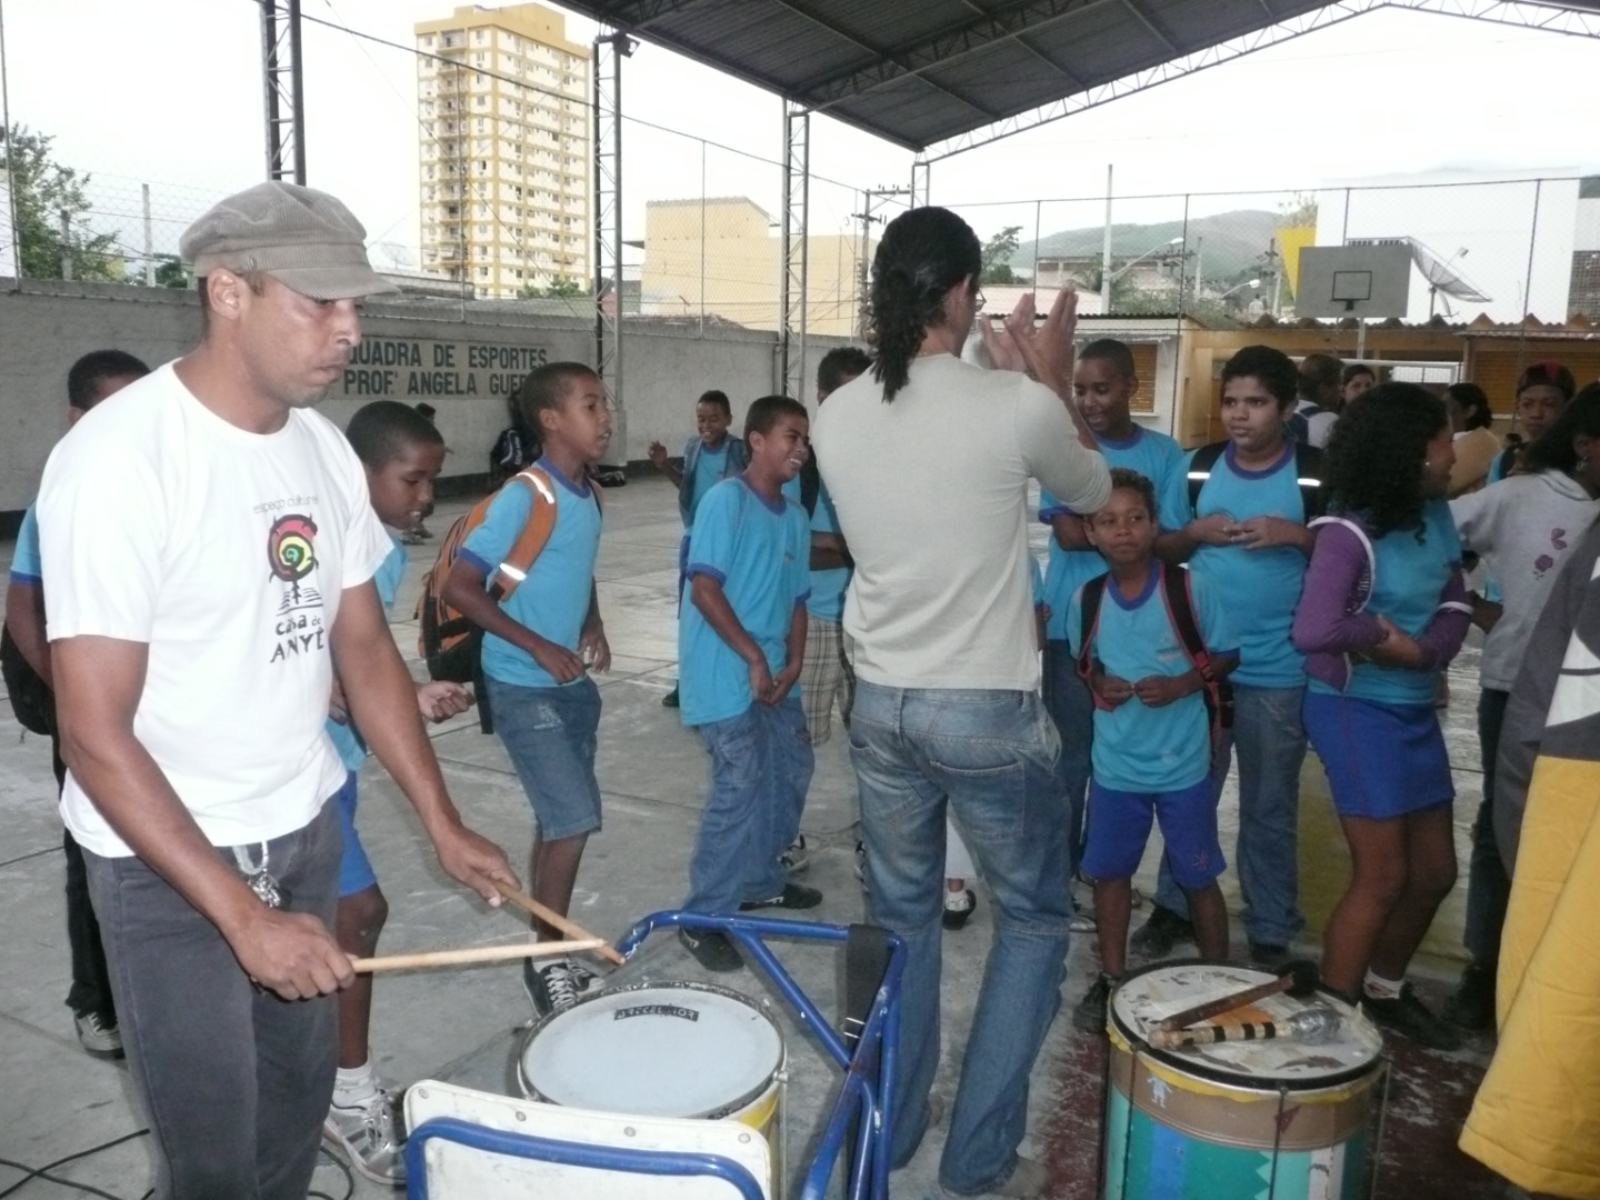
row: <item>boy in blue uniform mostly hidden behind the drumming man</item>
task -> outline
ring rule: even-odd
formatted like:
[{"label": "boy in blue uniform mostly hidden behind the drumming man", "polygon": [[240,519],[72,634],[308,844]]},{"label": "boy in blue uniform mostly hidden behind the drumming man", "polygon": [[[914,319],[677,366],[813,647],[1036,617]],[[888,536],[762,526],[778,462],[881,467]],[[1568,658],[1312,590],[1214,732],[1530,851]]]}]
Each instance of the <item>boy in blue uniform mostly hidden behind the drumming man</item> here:
[{"label": "boy in blue uniform mostly hidden behind the drumming man", "polygon": [[[357,410],[344,435],[366,467],[366,491],[373,510],[390,530],[408,533],[422,522],[434,502],[434,480],[445,466],[445,438],[426,416],[397,400],[376,400]],[[389,534],[394,549],[373,576],[384,610],[394,608],[405,578],[406,550]],[[472,693],[459,683],[421,683],[416,702],[422,717],[448,720],[472,707]],[[344,693],[334,677],[328,736],[347,771],[334,803],[339,806],[342,851],[339,859],[339,907],[333,933],[339,949],[357,958],[378,952],[378,936],[389,917],[389,902],[378,886],[378,875],[355,830],[357,773],[368,750],[350,723]],[[400,1186],[405,1182],[405,1139],[395,1125],[398,1096],[378,1080],[368,1048],[373,1016],[373,976],[358,974],[339,992],[339,1070],[333,1102],[323,1123],[323,1138],[339,1146],[357,1171],[368,1179]]]}]

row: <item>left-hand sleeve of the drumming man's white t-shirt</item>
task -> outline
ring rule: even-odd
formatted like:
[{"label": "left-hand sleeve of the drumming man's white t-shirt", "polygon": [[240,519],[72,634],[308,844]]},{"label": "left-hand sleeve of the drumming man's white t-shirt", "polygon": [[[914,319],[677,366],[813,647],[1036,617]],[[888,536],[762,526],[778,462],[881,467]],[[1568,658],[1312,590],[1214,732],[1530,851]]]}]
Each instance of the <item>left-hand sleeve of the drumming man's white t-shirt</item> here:
[{"label": "left-hand sleeve of the drumming man's white t-shirt", "polygon": [[38,530],[50,638],[149,643],[168,531],[154,464],[104,438],[64,438],[45,466]]}]

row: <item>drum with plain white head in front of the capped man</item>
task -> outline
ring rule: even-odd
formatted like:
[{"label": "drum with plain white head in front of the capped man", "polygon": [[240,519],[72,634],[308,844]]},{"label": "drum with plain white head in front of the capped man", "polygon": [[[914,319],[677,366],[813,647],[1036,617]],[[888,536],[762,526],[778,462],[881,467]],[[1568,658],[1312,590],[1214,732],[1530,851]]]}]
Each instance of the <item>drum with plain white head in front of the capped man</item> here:
[{"label": "drum with plain white head in front of the capped man", "polygon": [[784,1178],[784,1038],[765,1006],[726,987],[635,984],[579,1000],[528,1030],[517,1078],[546,1104],[741,1122]]}]

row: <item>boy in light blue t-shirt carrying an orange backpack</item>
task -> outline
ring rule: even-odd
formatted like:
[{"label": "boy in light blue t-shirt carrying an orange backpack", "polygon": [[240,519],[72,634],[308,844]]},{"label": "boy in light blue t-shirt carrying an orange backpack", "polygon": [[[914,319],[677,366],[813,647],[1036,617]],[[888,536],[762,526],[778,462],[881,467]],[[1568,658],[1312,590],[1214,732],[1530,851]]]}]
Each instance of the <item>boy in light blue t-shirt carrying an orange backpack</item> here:
[{"label": "boy in light blue t-shirt carrying an orange backpack", "polygon": [[[589,835],[600,829],[595,736],[600,690],[589,670],[606,670],[611,650],[595,598],[600,550],[600,494],[587,469],[611,442],[605,386],[582,363],[547,363],[517,389],[528,426],[539,430],[544,456],[536,480],[507,483],[483,523],[461,547],[443,600],[483,630],[483,683],[494,731],[533,805],[530,891],[566,915]],[[538,499],[534,498],[538,488]],[[512,578],[506,558],[533,517],[534,504],[555,506],[555,526],[515,590],[496,602],[486,590]],[[541,941],[562,931],[534,920]],[[589,976],[568,958],[523,965],[534,1013],[571,1008]]]}]

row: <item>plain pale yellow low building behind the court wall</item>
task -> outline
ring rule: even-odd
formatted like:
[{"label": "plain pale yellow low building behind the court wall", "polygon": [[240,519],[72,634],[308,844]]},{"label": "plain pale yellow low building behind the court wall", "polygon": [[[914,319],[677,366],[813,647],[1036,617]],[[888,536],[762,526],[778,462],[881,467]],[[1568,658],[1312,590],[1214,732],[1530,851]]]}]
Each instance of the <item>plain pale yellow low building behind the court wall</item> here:
[{"label": "plain pale yellow low building behind the court wall", "polygon": [[[867,243],[869,259],[875,246]],[[645,205],[640,309],[776,330],[781,256],[776,219],[749,197],[651,200]],[[806,256],[806,333],[856,336],[861,240],[813,235]]]}]

